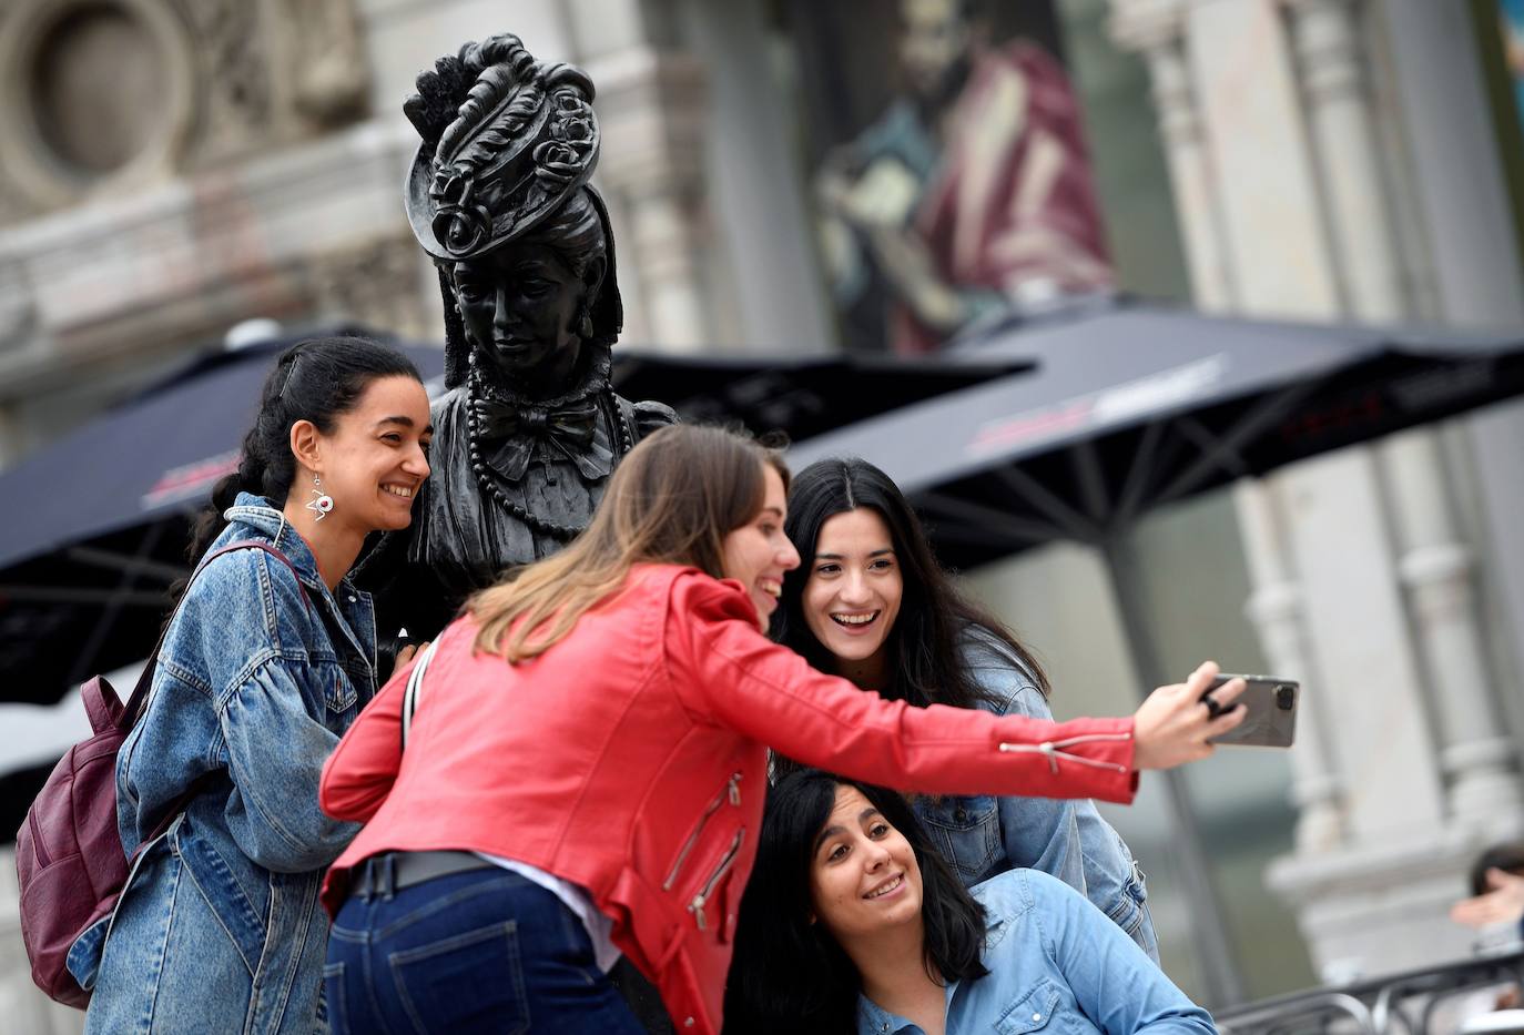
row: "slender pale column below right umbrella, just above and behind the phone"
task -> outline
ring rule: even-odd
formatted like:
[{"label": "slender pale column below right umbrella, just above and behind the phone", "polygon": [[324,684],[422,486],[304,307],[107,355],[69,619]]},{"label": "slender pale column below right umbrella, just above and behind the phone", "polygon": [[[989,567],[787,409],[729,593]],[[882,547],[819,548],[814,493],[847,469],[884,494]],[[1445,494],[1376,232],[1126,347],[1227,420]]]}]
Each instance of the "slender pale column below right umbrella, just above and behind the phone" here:
[{"label": "slender pale column below right umbrella, just above and behind the phone", "polygon": [[1291,794],[1298,809],[1297,854],[1327,852],[1344,841],[1344,785],[1324,738],[1327,718],[1320,694],[1326,683],[1317,678],[1301,584],[1292,572],[1280,517],[1265,483],[1239,482],[1233,488],[1233,503],[1254,587],[1244,613],[1259,633],[1271,672],[1301,681],[1297,744],[1291,751]]}]

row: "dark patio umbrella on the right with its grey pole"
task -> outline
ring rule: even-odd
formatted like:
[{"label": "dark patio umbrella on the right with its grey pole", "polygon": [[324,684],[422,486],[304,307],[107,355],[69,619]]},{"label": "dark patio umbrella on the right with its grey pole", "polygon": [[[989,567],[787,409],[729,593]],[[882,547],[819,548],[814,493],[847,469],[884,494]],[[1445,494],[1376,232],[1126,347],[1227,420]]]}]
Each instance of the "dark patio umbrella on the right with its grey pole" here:
[{"label": "dark patio umbrella on the right with its grey pole", "polygon": [[[1012,322],[942,360],[1032,366],[802,442],[791,466],[881,466],[954,567],[1055,540],[1099,547],[1145,686],[1170,680],[1126,540],[1143,512],[1524,392],[1524,329],[1237,320],[1125,300]],[[1210,895],[1184,782],[1166,776],[1184,878]],[[1195,908],[1192,922],[1210,998],[1239,1001],[1221,918]]]}]

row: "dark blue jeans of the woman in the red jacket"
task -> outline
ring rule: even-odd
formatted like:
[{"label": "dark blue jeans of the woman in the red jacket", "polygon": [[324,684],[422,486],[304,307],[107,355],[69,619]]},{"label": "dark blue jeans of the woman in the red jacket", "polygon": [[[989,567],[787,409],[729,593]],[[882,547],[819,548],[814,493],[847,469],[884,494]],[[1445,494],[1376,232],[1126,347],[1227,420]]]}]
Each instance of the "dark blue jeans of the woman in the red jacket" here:
[{"label": "dark blue jeans of the woman in the red jacket", "polygon": [[559,898],[498,867],[344,902],[323,968],[335,1035],[642,1035]]}]

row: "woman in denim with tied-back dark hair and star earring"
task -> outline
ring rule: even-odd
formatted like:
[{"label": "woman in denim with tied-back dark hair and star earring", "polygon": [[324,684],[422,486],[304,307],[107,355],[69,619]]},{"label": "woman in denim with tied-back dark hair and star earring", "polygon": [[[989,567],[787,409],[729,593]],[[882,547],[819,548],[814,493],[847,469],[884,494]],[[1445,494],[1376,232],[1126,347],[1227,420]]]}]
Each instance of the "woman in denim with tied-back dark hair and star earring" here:
[{"label": "woman in denim with tied-back dark hair and star earring", "polygon": [[[326,1030],[325,867],[358,831],[317,808],[322,767],[376,687],[366,535],[407,527],[428,477],[428,396],[395,349],[322,338],[265,381],[192,556],[148,707],[117,758],[117,823],[145,846],[116,913],[75,942],[87,1032]],[[226,521],[226,527],[223,523]]]}]

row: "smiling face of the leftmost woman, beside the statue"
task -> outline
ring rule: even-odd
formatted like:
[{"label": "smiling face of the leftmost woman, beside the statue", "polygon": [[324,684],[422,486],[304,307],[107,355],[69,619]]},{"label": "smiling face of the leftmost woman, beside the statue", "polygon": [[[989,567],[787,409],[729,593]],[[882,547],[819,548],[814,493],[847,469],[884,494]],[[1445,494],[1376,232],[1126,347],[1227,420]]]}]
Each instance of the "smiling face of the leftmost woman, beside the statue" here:
[{"label": "smiling face of the leftmost woman, beside the statue", "polygon": [[[428,477],[428,393],[410,377],[376,378],[355,407],[317,436],[323,492],[334,509],[323,518],[357,532],[405,529],[413,498]],[[309,483],[291,486],[305,497]]]}]

